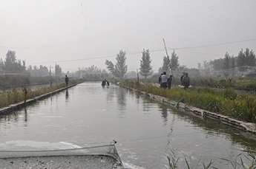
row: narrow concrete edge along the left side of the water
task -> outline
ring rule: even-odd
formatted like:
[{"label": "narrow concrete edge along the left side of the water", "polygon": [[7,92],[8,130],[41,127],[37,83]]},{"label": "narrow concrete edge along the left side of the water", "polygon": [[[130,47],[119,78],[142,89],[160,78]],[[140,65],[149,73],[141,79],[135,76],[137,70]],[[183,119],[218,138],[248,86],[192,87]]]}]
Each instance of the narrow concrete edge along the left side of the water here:
[{"label": "narrow concrete edge along the left side of the water", "polygon": [[42,94],[42,95],[39,96],[39,97],[35,97],[35,98],[33,98],[33,99],[28,99],[28,100],[26,100],[26,103],[24,103],[24,102],[22,102],[22,103],[15,103],[15,104],[11,104],[11,105],[9,105],[9,106],[7,106],[7,107],[0,108],[0,115],[1,115],[1,114],[10,113],[11,111],[15,111],[15,110],[17,110],[17,109],[19,109],[19,108],[22,108],[22,107],[24,107],[24,106],[30,105],[30,104],[32,104],[32,103],[35,103],[37,100],[44,100],[45,98],[50,97],[50,96],[52,96],[53,94],[56,94],[56,93],[58,93],[58,92],[62,92],[63,90],[66,90],[66,89],[68,89],[68,88],[70,88],[70,87],[73,87],[73,86],[76,86],[76,85],[78,85],[78,84],[79,84],[79,83],[76,83],[76,84],[70,85],[70,86],[65,87],[65,88],[62,88],[62,89],[58,89],[58,90],[56,90],[56,91],[53,91],[53,92],[50,92],[50,93],[47,93],[47,94]]}]

